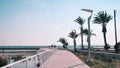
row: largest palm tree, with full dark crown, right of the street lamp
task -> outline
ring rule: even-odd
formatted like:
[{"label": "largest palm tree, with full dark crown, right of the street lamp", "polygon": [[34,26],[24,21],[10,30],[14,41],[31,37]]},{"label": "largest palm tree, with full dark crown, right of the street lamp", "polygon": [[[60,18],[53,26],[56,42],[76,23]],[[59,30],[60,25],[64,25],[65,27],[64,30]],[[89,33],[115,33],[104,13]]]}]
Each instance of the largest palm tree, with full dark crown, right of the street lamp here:
[{"label": "largest palm tree, with full dark crown, right of the street lamp", "polygon": [[107,32],[107,28],[106,25],[107,23],[109,23],[109,21],[112,19],[112,16],[107,14],[106,11],[100,11],[98,12],[95,17],[93,22],[96,24],[101,24],[102,25],[102,32],[103,32],[103,37],[104,37],[104,48],[105,50],[108,50],[110,48],[110,46],[107,44],[107,40],[106,40],[106,32]]}]

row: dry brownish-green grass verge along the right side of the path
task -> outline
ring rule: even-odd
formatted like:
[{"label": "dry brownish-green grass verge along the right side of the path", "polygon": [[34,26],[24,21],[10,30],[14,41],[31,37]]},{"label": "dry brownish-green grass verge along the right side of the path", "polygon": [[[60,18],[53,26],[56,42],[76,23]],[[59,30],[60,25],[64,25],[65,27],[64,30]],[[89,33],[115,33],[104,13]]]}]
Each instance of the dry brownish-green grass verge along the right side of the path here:
[{"label": "dry brownish-green grass verge along the right side of the path", "polygon": [[[73,51],[72,51],[73,52]],[[74,52],[73,52],[74,53]],[[92,56],[92,63],[87,63],[88,54],[74,53],[78,56],[83,62],[85,62],[90,68],[120,68],[120,59],[104,57],[104,56]]]}]

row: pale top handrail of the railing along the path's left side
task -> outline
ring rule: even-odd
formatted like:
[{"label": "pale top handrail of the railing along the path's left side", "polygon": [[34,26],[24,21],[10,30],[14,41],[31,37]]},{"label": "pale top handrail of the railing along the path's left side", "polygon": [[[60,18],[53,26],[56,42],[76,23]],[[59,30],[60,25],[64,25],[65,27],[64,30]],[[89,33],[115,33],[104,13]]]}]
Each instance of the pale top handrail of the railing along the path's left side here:
[{"label": "pale top handrail of the railing along the path's left side", "polygon": [[36,54],[36,55],[27,57],[27,58],[22,59],[22,60],[19,60],[19,61],[16,61],[16,62],[14,62],[14,63],[8,64],[8,65],[3,66],[3,67],[1,67],[1,68],[9,68],[9,67],[11,67],[11,66],[13,66],[13,65],[15,65],[15,64],[18,64],[18,63],[20,63],[20,62],[27,61],[27,60],[32,59],[32,58],[35,58],[35,57],[38,57],[38,56],[40,56],[40,55],[42,55],[42,54],[44,54],[44,53],[50,52],[50,51],[52,51],[52,49],[43,51],[43,52],[41,52],[41,53],[38,53],[38,54]]}]

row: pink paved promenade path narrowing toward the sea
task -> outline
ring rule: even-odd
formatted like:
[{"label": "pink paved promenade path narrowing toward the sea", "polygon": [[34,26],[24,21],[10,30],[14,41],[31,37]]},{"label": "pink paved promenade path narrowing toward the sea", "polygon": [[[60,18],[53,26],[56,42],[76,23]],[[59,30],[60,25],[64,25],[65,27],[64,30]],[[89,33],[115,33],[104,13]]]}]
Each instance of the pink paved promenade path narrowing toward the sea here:
[{"label": "pink paved promenade path narrowing toward the sea", "polygon": [[57,50],[41,68],[90,68],[67,50]]}]

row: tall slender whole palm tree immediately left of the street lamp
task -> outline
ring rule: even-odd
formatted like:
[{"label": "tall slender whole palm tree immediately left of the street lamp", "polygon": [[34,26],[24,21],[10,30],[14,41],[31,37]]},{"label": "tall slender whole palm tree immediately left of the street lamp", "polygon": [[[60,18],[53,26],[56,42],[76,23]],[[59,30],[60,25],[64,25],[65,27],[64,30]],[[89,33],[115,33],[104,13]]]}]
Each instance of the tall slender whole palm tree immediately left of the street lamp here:
[{"label": "tall slender whole palm tree immediately left of the street lamp", "polygon": [[81,17],[78,17],[75,22],[77,22],[79,25],[80,25],[80,30],[81,30],[81,45],[82,45],[82,49],[84,49],[84,46],[83,46],[83,24],[85,22],[85,20]]}]

